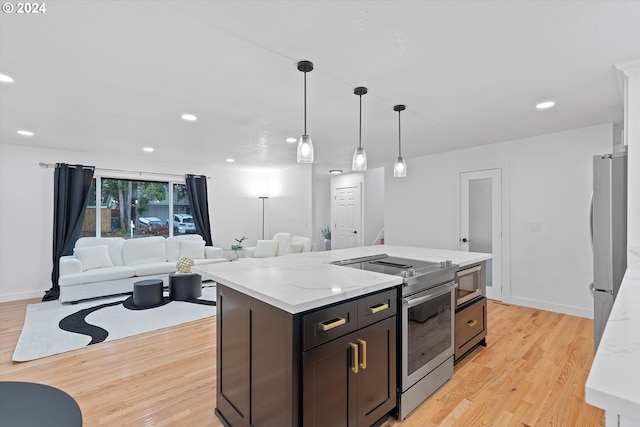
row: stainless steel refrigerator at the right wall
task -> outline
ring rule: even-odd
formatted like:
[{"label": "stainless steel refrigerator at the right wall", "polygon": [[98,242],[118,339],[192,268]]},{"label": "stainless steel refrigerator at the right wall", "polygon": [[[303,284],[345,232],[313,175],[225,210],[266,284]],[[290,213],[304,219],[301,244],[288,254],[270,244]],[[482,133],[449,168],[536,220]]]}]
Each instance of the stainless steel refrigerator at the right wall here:
[{"label": "stainless steel refrigerator at the right wall", "polygon": [[593,157],[591,206],[594,350],[627,269],[627,153]]}]

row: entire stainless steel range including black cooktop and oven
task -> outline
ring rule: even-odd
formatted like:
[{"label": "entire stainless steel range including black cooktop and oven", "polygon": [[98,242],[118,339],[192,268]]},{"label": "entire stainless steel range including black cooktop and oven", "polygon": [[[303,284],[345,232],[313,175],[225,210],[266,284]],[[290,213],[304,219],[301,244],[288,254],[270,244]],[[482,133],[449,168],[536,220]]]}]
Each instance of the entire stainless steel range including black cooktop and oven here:
[{"label": "entire stainless steel range including black cooktop and oven", "polygon": [[400,292],[398,417],[404,419],[453,376],[458,266],[386,254],[336,262],[403,278]]}]

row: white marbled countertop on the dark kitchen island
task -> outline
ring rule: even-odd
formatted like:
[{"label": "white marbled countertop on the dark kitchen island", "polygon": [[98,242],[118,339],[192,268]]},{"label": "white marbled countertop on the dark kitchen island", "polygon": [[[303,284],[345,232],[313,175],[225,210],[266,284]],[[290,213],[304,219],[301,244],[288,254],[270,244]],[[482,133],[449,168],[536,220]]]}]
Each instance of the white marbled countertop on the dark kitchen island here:
[{"label": "white marbled countertop on the dark kitchen island", "polygon": [[193,266],[205,279],[296,314],[402,283],[398,276],[330,264],[349,258],[387,254],[461,267],[491,258],[490,254],[406,246],[365,246],[273,258],[239,258],[233,262]]}]

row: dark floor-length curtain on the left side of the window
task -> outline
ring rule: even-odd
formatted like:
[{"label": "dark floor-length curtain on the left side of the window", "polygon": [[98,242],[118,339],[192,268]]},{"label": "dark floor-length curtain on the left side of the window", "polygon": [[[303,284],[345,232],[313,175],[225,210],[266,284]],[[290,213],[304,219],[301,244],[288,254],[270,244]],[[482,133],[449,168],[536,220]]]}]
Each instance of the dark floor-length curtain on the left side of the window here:
[{"label": "dark floor-length curtain on the left side of the window", "polygon": [[57,163],[53,177],[53,271],[51,283],[42,301],[60,296],[60,257],[73,254],[73,246],[80,237],[93,166]]}]

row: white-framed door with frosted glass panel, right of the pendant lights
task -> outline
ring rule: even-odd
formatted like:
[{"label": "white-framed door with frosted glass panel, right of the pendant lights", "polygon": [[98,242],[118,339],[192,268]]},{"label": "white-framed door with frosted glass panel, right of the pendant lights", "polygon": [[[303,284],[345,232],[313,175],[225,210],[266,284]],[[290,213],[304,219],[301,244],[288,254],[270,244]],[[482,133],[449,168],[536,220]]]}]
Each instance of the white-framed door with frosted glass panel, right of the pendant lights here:
[{"label": "white-framed door with frosted glass panel, right of the pendant lights", "polygon": [[491,253],[487,298],[502,300],[502,170],[460,174],[460,250]]}]

